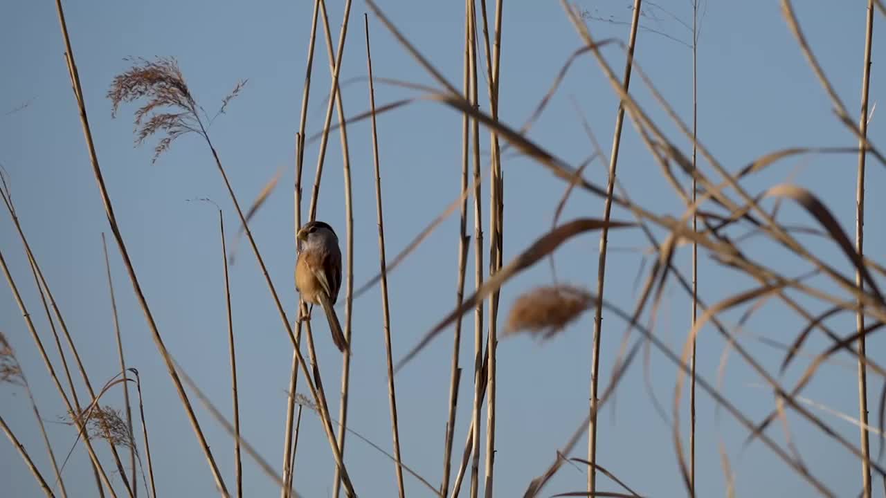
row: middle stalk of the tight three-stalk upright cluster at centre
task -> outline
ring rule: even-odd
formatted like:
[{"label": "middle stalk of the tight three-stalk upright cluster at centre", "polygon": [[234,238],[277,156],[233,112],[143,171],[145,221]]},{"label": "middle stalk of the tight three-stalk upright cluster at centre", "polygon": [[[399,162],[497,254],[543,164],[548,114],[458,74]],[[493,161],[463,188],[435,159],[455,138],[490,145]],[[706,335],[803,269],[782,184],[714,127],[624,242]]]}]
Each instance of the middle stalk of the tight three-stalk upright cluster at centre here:
[{"label": "middle stalk of the tight three-stalk upright cluster at centre", "polygon": [[[474,107],[478,102],[478,74],[477,74],[477,7],[474,0],[468,0],[468,22],[470,25],[470,40],[468,51],[470,53],[470,104]],[[480,199],[480,131],[479,121],[471,120],[471,141],[473,143],[474,161],[474,278],[476,289],[483,285],[483,214],[482,200]],[[480,378],[480,370],[483,358],[483,301],[477,303],[474,313],[474,404],[471,419],[473,420],[473,442],[471,448],[470,463],[470,498],[478,496],[478,473],[480,466],[480,410],[483,399],[480,396],[480,384],[486,384],[486,379]]]}]

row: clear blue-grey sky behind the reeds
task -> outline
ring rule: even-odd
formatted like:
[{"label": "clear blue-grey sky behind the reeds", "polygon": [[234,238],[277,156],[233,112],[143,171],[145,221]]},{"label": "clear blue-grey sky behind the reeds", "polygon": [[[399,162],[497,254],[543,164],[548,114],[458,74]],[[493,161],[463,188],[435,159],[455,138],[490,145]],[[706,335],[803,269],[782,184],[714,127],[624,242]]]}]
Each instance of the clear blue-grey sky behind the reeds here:
[{"label": "clear blue-grey sky behind the reeds", "polygon": [[[389,18],[450,82],[461,85],[464,10],[459,2],[379,2]],[[797,2],[797,15],[805,35],[835,90],[851,113],[858,113],[864,47],[865,4],[860,0]],[[627,39],[630,2],[579,1],[598,39]],[[284,175],[273,195],[251,222],[271,278],[287,314],[294,318],[297,293],[292,271],[295,258],[291,185],[294,179],[294,136],[307,58],[307,40],[313,3],[308,0],[225,3],[198,0],[117,2],[94,0],[67,2],[66,17],[79,67],[98,159],[113,206],[144,294],[167,347],[214,403],[229,416],[230,385],[227,325],[221,247],[215,207],[192,202],[212,198],[225,216],[229,234],[236,230],[236,212],[212,157],[197,136],[185,136],[152,164],[153,144],[133,147],[132,112],[125,105],[112,119],[105,97],[114,75],[128,67],[123,58],[175,56],[192,93],[207,110],[214,109],[238,79],[249,82],[240,97],[209,130],[227,168],[241,205],[252,202],[277,168]],[[492,8],[490,6],[490,8]],[[346,49],[341,69],[346,113],[369,108],[363,13],[368,8],[354,2],[350,13]],[[343,3],[330,2],[332,39],[338,41]],[[680,117],[691,120],[692,80],[689,0],[646,3],[644,30],[637,39],[636,57],[657,89]],[[595,18],[595,19],[590,19]],[[875,30],[882,17],[877,16]],[[544,96],[557,72],[581,42],[565,12],[556,2],[506,2],[501,38],[501,120],[519,127]],[[750,160],[791,146],[854,146],[851,133],[835,120],[828,97],[821,89],[790,35],[779,4],[772,1],[705,3],[698,48],[699,138],[729,171]],[[385,27],[371,15],[373,71],[377,78],[396,78],[434,85],[431,77],[408,56]],[[35,256],[42,265],[58,306],[93,385],[102,385],[118,369],[113,338],[111,305],[105,279],[101,234],[108,231],[101,198],[91,174],[80,121],[63,56],[64,44],[52,2],[13,0],[0,7],[0,162],[10,183],[17,212]],[[874,34],[871,103],[882,97],[883,47]],[[481,51],[482,53],[482,51]],[[605,51],[620,73],[624,52],[615,46]],[[318,27],[315,70],[308,108],[308,135],[322,128],[330,74],[328,56]],[[481,65],[485,62],[481,58]],[[484,66],[485,67],[485,66]],[[485,85],[481,82],[486,109]],[[634,79],[633,93],[664,132],[684,151],[689,141],[668,121],[644,88]],[[413,95],[410,90],[377,82],[378,105]],[[599,66],[587,56],[571,67],[561,89],[529,136],[572,165],[593,152],[581,127],[578,103],[602,144],[610,144],[618,101]],[[23,105],[26,105],[24,106]],[[458,195],[461,175],[461,116],[430,102],[402,107],[378,117],[379,148],[385,209],[385,242],[389,259],[423,230]],[[881,143],[880,116],[874,113],[869,129]],[[373,164],[368,122],[348,127],[354,187],[354,286],[378,271],[377,219]],[[488,168],[488,136],[480,140],[484,169]],[[318,144],[305,152],[306,197],[313,183]],[[608,152],[608,149],[607,149]],[[794,157],[778,163],[745,183],[752,195],[775,183],[796,182],[811,189],[826,203],[851,236],[854,233],[854,192],[857,159],[852,154]],[[539,164],[509,154],[502,164],[505,178],[504,260],[507,262],[549,230],[564,183]],[[704,171],[712,174],[706,163]],[[587,178],[605,183],[605,168],[595,162]],[[679,215],[680,199],[664,181],[657,163],[628,123],[622,139],[619,181],[631,197],[649,210]],[[680,176],[686,182],[684,176]],[[886,182],[882,165],[869,162],[867,181],[866,253],[883,261],[886,236],[882,213],[886,200],[876,195]],[[688,184],[688,182],[687,182]],[[338,136],[330,136],[318,217],[330,222],[345,237],[345,207],[341,151]],[[488,190],[484,185],[483,223],[488,223]],[[307,206],[307,201],[306,201]],[[771,202],[767,204],[771,206]],[[563,220],[600,216],[602,200],[575,191]],[[630,213],[614,209],[613,218]],[[811,225],[812,219],[785,203],[780,219]],[[469,225],[473,225],[472,217]],[[738,232],[736,232],[738,233]],[[19,238],[9,216],[0,215],[0,251],[34,316],[43,341],[58,364],[51,334],[41,310],[39,295],[27,266]],[[394,359],[414,346],[425,331],[455,305],[458,215],[454,214],[389,278]],[[657,232],[659,239],[663,232]],[[593,289],[596,284],[598,234],[575,237],[556,253],[562,280]],[[109,237],[111,238],[111,237]],[[814,237],[801,240],[824,261],[851,276],[851,267],[835,246]],[[486,237],[488,241],[488,237]],[[228,238],[229,248],[235,246]],[[212,496],[214,481],[193,436],[175,388],[154,346],[144,315],[137,305],[113,239],[112,273],[120,312],[128,366],[141,373],[144,409],[151,435],[158,493],[164,496]],[[647,243],[638,230],[610,233],[606,295],[624,309],[632,309]],[[808,269],[799,259],[766,243],[761,237],[742,245],[754,257],[785,275]],[[284,416],[291,346],[276,308],[245,240],[236,244],[237,260],[230,267],[242,433],[269,462],[279,467],[283,453]],[[488,249],[484,250],[486,256]],[[720,268],[700,252],[699,288],[708,303],[753,286],[747,276]],[[486,259],[486,258],[485,258]],[[473,253],[468,282],[473,284]],[[689,253],[684,248],[676,264],[688,272]],[[548,264],[542,262],[514,278],[501,292],[501,322],[517,296],[551,282]],[[833,290],[822,278],[815,284]],[[339,300],[343,300],[344,292]],[[795,296],[797,297],[797,296]],[[797,297],[812,313],[826,307]],[[354,301],[351,398],[348,425],[381,447],[391,447],[391,428],[385,377],[384,336],[380,294],[377,289]],[[339,313],[343,313],[340,311]],[[340,315],[344,320],[344,315]],[[664,292],[656,321],[659,338],[679,351],[686,338],[689,300],[678,285]],[[734,324],[739,315],[725,320]],[[610,371],[625,331],[624,323],[604,313],[601,389],[609,385]],[[462,336],[462,390],[455,430],[454,454],[461,455],[472,397],[470,365],[473,327],[470,315]],[[851,315],[828,321],[835,331],[851,333]],[[742,346],[755,354],[767,370],[778,373],[783,352],[761,342],[769,338],[790,343],[803,327],[798,316],[783,304],[768,302],[739,335]],[[435,485],[442,473],[444,431],[452,351],[452,327],[434,340],[396,377],[402,458]],[[64,415],[58,393],[36,353],[8,286],[0,286],[0,331],[10,340],[33,386],[43,417],[48,421],[56,455],[63,458],[74,443],[75,432],[55,423]],[[324,385],[333,414],[338,413],[341,360],[332,346],[326,324],[315,322],[315,337]],[[811,353],[827,343],[812,334]],[[555,340],[539,343],[532,338],[502,340],[498,349],[498,414],[496,432],[496,496],[522,494],[529,481],[540,475],[578,424],[587,416],[593,313],[589,312]],[[715,383],[724,340],[708,327],[699,338],[699,372]],[[874,336],[868,344],[876,356],[886,346]],[[808,364],[801,358],[784,376],[792,386]],[[651,392],[664,406],[663,416],[644,380],[642,362],[635,362],[618,387],[610,407],[599,419],[599,463],[640,494],[675,496],[685,493],[672,441],[672,394],[677,369],[657,351],[649,354],[647,377]],[[858,390],[855,366],[847,354],[838,354],[820,370],[804,395],[831,409],[857,416]],[[728,357],[719,388],[746,416],[760,420],[773,409],[771,390],[761,388],[761,378],[735,354]],[[301,385],[301,383],[300,383]],[[872,404],[882,379],[872,376]],[[85,393],[81,392],[82,396]],[[115,389],[105,399],[122,408]],[[200,423],[210,441],[229,489],[235,486],[233,443],[227,432],[192,397]],[[688,431],[688,401],[680,413],[684,438]],[[803,479],[761,442],[743,446],[747,431],[725,411],[717,411],[711,397],[699,393],[697,406],[697,489],[701,496],[725,493],[726,479],[719,447],[725,448],[741,496],[808,495]],[[825,411],[817,416],[837,433],[857,444],[858,428]],[[872,414],[876,408],[872,409]],[[44,476],[51,466],[27,395],[21,389],[0,387],[0,415],[27,447]],[[485,414],[483,416],[486,418]],[[823,435],[796,412],[789,412],[790,432],[808,468],[840,496],[860,490],[860,464],[835,440]],[[875,418],[873,418],[875,420]],[[138,424],[136,424],[136,431]],[[780,426],[767,434],[785,445]],[[688,438],[686,438],[688,439]],[[140,438],[139,438],[139,442]],[[100,447],[100,446],[99,446]],[[586,456],[587,443],[579,443],[573,456]],[[872,448],[879,448],[872,438]],[[485,446],[482,450],[486,451]],[[109,462],[107,450],[101,455]],[[458,457],[454,458],[454,461]],[[36,496],[40,489],[10,444],[0,444],[0,483],[4,496]],[[243,455],[247,495],[268,496],[276,486]],[[361,496],[393,496],[396,483],[392,463],[361,440],[348,437],[346,463]],[[481,465],[482,467],[482,465]],[[110,468],[110,467],[109,467]],[[95,494],[88,455],[74,449],[64,471],[72,496]],[[119,485],[119,476],[113,477]],[[482,476],[481,476],[482,479]],[[584,489],[587,469],[564,465],[545,490],[556,494]],[[305,412],[299,436],[295,486],[307,497],[330,496],[333,461],[316,416]],[[409,496],[431,495],[416,479],[405,477]],[[600,489],[619,491],[605,477]],[[874,494],[882,492],[874,479]],[[462,487],[467,495],[468,486]],[[140,490],[144,493],[144,489]]]}]

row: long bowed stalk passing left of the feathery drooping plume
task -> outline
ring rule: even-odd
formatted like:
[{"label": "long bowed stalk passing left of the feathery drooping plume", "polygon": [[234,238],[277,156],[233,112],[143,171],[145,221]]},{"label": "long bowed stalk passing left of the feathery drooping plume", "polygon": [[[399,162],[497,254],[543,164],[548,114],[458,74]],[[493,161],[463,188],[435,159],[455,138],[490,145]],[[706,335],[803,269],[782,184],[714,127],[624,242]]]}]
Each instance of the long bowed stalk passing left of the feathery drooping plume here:
[{"label": "long bowed stalk passing left of the feathery drooping plume", "polygon": [[107,214],[108,223],[111,225],[111,230],[113,231],[114,238],[116,239],[117,245],[120,249],[120,255],[123,257],[123,262],[126,265],[129,279],[132,281],[133,290],[136,292],[136,297],[138,298],[139,304],[142,307],[144,317],[147,320],[148,326],[152,331],[154,342],[156,343],[160,354],[163,356],[163,359],[167,364],[169,376],[173,379],[173,383],[175,384],[175,388],[178,392],[179,398],[181,399],[183,407],[187,412],[191,427],[197,435],[197,438],[200,442],[200,447],[203,448],[204,455],[206,455],[206,461],[207,463],[209,463],[210,470],[213,472],[215,485],[218,487],[220,493],[223,496],[229,496],[228,488],[224,485],[224,479],[221,479],[221,472],[218,470],[218,466],[215,464],[215,459],[209,449],[209,443],[206,441],[206,437],[204,436],[203,431],[200,429],[200,425],[197,421],[197,416],[194,414],[194,410],[190,406],[188,394],[184,391],[184,386],[182,385],[181,380],[178,378],[178,374],[175,372],[175,366],[172,363],[169,354],[167,353],[167,348],[163,344],[163,339],[160,337],[157,323],[154,322],[151,309],[148,307],[148,302],[144,297],[141,285],[138,283],[136,270],[132,266],[132,261],[129,260],[129,253],[126,249],[126,244],[123,242],[123,236],[120,234],[120,228],[117,224],[117,218],[114,216],[113,213],[111,198],[108,195],[108,191],[105,187],[105,179],[102,175],[101,168],[98,165],[98,156],[96,153],[95,144],[92,141],[92,131],[89,128],[89,118],[86,113],[86,103],[83,100],[83,90],[80,84],[80,75],[77,72],[77,65],[74,62],[74,50],[71,48],[71,39],[67,33],[65,12],[61,6],[61,0],[56,0],[56,10],[58,12],[58,24],[61,28],[61,34],[65,42],[68,73],[71,77],[71,84],[74,87],[74,97],[77,100],[77,106],[80,112],[83,136],[86,140],[87,149],[89,150],[89,160],[92,164],[93,175],[95,175],[98,189],[99,191],[101,191],[102,201],[105,205],[105,214]]}]

